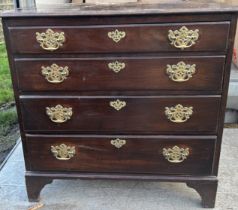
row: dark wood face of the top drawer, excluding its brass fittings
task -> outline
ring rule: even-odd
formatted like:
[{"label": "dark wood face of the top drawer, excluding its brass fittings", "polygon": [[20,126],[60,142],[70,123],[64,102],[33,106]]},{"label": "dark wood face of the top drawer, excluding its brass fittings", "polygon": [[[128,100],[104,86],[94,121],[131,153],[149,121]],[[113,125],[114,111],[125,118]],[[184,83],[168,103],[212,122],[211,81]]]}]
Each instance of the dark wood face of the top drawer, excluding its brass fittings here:
[{"label": "dark wood face of the top drawer, excluding its brass fittings", "polygon": [[[9,30],[14,53],[180,52],[181,49],[170,44],[168,31],[179,30],[182,26],[198,29],[200,35],[197,43],[184,51],[226,51],[229,22],[51,27],[54,32],[64,32],[66,39],[54,52],[42,49],[36,41],[36,32],[49,28],[47,22],[44,27],[11,27]],[[118,43],[108,37],[108,32],[116,29],[126,32]]]}]

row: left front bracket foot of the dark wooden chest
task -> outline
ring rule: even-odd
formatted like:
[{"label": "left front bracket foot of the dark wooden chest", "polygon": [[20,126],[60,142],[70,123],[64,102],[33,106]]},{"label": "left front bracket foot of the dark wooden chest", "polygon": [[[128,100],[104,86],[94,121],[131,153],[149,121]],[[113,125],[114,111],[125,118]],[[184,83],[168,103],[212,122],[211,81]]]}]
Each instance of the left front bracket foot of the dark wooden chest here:
[{"label": "left front bracket foot of the dark wooden chest", "polygon": [[45,177],[25,176],[26,190],[30,202],[39,201],[39,195],[43,187],[52,183],[53,179]]}]

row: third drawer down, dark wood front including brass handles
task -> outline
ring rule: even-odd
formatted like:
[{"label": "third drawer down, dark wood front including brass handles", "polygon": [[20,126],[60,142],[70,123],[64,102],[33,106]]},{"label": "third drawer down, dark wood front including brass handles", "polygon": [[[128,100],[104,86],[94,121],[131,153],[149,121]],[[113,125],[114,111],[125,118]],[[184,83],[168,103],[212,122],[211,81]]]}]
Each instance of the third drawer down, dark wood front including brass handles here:
[{"label": "third drawer down, dark wood front including brass handles", "polygon": [[220,97],[21,96],[28,132],[216,133]]}]

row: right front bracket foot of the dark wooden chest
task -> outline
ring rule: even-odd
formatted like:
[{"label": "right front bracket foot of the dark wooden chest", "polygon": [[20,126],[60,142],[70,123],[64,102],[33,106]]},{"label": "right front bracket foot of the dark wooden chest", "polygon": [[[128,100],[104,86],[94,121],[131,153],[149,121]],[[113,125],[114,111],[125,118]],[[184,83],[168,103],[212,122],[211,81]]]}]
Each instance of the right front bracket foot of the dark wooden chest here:
[{"label": "right front bracket foot of the dark wooden chest", "polygon": [[214,208],[217,192],[217,180],[213,181],[188,181],[188,187],[195,189],[202,198],[204,208]]}]

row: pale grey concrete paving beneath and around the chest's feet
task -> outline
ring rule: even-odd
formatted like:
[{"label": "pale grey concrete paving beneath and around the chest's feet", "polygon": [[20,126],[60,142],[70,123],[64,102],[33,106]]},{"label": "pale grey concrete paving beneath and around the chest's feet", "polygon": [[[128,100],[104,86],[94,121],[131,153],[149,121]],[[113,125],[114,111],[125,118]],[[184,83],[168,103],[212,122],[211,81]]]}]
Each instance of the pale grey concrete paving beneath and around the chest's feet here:
[{"label": "pale grey concrete paving beneath and around the chest's feet", "polygon": [[[238,209],[238,129],[225,129],[215,210]],[[41,192],[40,210],[195,210],[200,197],[178,183],[56,180]],[[0,210],[27,210],[21,145],[0,171]]]}]

